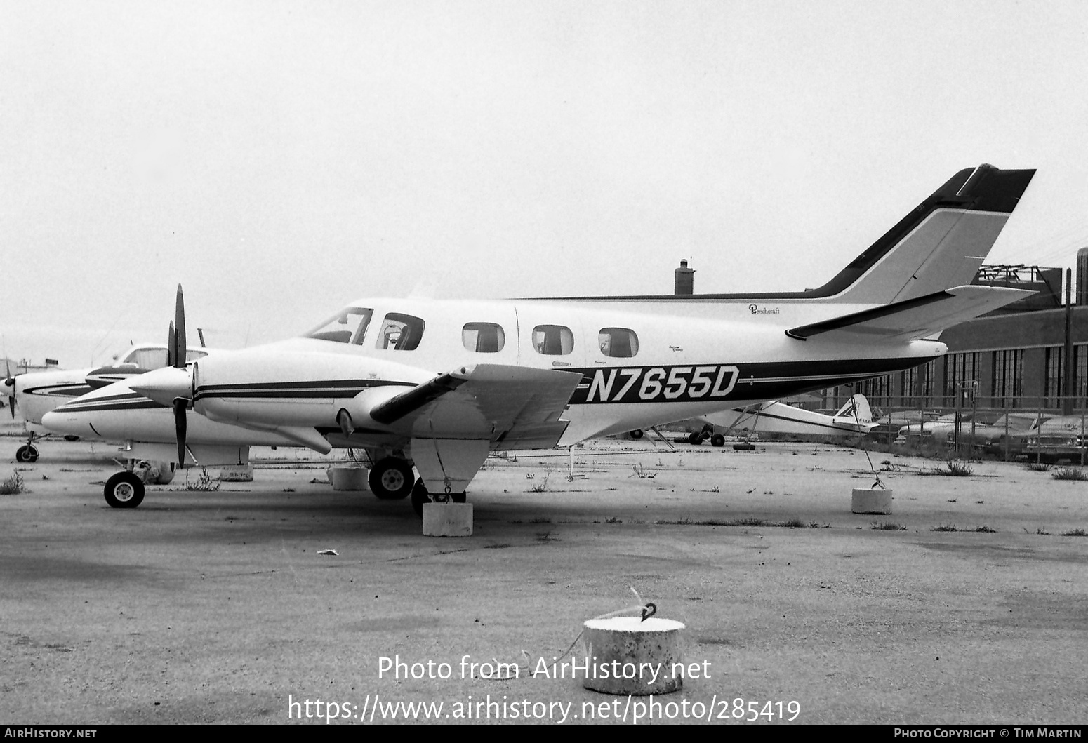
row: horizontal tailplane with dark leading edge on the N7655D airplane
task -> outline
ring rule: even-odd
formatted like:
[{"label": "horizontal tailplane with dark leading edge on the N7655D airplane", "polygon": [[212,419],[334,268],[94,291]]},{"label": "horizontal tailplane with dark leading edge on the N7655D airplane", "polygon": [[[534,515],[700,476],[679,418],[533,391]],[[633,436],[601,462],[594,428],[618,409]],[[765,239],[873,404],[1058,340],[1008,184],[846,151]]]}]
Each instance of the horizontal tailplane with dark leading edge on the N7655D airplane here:
[{"label": "horizontal tailplane with dark leading edge on the N7655D airplane", "polygon": [[924,297],[852,312],[786,331],[791,338],[807,340],[825,333],[850,333],[874,339],[913,340],[1004,307],[1035,292],[1002,286],[956,286]]}]

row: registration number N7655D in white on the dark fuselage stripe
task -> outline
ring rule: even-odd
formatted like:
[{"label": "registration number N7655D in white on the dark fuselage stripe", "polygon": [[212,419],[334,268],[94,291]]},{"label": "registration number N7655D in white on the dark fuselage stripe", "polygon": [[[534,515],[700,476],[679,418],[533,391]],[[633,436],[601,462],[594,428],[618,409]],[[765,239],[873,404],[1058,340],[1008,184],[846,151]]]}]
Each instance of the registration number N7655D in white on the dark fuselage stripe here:
[{"label": "registration number N7655D in white on the dark fuselage stripe", "polygon": [[588,369],[571,403],[690,403],[721,399],[733,391],[737,367]]}]

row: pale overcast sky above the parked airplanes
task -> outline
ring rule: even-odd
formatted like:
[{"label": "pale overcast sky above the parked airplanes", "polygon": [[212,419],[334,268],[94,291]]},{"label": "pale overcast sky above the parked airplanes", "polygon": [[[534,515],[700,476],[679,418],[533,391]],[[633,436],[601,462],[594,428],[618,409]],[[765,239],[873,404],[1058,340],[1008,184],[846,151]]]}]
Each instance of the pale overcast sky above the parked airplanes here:
[{"label": "pale overcast sky above the parked airplanes", "polygon": [[1088,3],[0,0],[0,357],[827,281],[956,171],[1088,246]]}]

